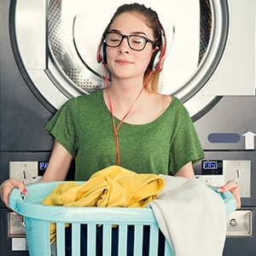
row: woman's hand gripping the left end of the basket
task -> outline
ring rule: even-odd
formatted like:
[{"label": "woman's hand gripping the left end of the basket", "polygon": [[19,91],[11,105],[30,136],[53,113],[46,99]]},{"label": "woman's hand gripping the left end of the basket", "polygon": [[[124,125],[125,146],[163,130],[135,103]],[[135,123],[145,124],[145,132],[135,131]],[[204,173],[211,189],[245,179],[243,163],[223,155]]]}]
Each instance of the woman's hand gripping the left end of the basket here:
[{"label": "woman's hand gripping the left end of the basket", "polygon": [[25,184],[15,177],[5,180],[0,186],[1,199],[6,207],[9,207],[9,195],[15,188],[20,189],[22,194],[27,194]]}]

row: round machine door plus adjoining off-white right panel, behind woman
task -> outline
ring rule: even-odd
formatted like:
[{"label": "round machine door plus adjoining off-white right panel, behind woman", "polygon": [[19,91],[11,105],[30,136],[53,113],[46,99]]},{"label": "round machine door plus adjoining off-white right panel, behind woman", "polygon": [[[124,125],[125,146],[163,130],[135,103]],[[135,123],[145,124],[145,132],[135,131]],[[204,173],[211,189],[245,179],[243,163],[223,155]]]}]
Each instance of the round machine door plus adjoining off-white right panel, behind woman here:
[{"label": "round machine door plus adjoining off-white right panel, behind woman", "polygon": [[[166,9],[164,0],[143,1],[158,12],[166,31],[160,92],[180,98],[194,119],[219,96],[254,95],[254,2],[172,0]],[[13,46],[20,69],[35,94],[54,109],[70,97],[104,88],[96,50],[120,4],[12,1]]]}]

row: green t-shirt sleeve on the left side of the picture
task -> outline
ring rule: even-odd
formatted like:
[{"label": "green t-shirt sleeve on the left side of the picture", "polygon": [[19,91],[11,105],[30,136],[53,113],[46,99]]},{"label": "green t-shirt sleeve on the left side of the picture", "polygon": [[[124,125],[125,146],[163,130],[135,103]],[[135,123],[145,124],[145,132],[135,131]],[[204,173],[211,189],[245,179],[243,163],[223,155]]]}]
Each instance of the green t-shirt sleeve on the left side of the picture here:
[{"label": "green t-shirt sleeve on the left side of the picture", "polygon": [[45,129],[55,137],[58,143],[67,149],[69,154],[75,154],[76,126],[73,102],[66,102],[49,120]]}]

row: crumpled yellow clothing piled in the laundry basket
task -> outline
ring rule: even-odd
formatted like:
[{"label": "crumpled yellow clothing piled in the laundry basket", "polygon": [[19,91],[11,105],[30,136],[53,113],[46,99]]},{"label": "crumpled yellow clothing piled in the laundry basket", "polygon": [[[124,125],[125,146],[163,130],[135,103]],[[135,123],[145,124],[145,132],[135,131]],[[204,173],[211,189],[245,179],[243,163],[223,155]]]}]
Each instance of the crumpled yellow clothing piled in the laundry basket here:
[{"label": "crumpled yellow clothing piled in the laundry basket", "polygon": [[[79,184],[59,184],[42,202],[66,207],[146,207],[164,188],[165,180],[156,174],[136,173],[109,166]],[[55,224],[50,224],[50,241],[55,241]]]}]

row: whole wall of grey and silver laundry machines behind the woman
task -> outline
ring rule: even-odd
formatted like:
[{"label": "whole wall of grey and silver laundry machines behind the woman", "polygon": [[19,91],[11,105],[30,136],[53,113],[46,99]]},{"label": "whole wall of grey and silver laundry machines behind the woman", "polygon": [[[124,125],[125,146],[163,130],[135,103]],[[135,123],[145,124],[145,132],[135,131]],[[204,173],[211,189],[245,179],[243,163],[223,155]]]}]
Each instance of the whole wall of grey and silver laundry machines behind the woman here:
[{"label": "whole wall of grey and silver laundry machines behind the woman", "polygon": [[[53,143],[44,130],[50,117],[68,98],[104,87],[96,46],[120,1],[84,2],[0,2],[1,183],[38,181]],[[166,1],[138,2],[157,10],[165,27],[160,92],[179,97],[195,123],[206,155],[196,178],[240,185],[224,256],[256,255],[256,1],[172,0],[168,10]],[[27,256],[20,218],[0,207],[0,254]]]}]

